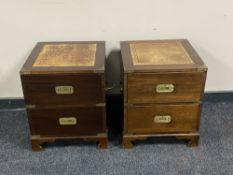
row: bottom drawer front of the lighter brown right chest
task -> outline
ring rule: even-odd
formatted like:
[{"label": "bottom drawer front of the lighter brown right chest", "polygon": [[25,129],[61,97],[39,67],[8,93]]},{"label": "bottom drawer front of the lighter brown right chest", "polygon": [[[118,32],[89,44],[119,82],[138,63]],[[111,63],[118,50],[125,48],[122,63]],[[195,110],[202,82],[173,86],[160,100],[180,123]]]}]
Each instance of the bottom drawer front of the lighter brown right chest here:
[{"label": "bottom drawer front of the lighter brown right chest", "polygon": [[128,133],[186,133],[196,132],[199,126],[199,104],[137,106],[126,110]]}]

